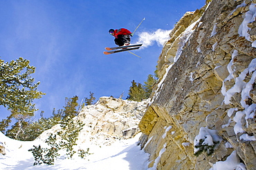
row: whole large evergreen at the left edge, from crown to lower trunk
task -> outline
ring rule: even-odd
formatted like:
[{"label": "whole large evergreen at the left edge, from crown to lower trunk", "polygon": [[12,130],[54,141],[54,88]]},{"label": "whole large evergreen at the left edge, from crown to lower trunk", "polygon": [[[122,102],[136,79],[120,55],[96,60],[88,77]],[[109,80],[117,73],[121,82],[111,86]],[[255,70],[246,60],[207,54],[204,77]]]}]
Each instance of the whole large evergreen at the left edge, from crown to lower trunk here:
[{"label": "whole large evergreen at the left edge, from crown to lower trunk", "polygon": [[[10,63],[0,59],[0,105],[11,112],[7,119],[1,121],[0,129],[10,138],[25,138],[23,133],[28,127],[28,120],[37,110],[33,100],[44,95],[37,91],[39,82],[34,83],[34,78],[30,76],[34,72],[35,67],[21,57]],[[7,131],[12,118],[16,123]]]}]

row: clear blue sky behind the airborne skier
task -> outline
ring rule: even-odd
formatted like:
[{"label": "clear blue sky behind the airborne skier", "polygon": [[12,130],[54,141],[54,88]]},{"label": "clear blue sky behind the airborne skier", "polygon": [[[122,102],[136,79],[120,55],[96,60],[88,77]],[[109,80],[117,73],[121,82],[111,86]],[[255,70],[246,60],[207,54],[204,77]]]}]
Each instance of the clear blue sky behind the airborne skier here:
[{"label": "clear blue sky behind the airborne skier", "polygon": [[[65,97],[82,99],[93,92],[97,99],[118,98],[124,93],[125,99],[131,81],[143,83],[156,70],[163,46],[154,43],[154,32],[170,32],[185,12],[204,4],[205,0],[0,0],[0,59],[21,56],[36,67],[32,76],[46,95],[35,103],[46,117],[53,108],[62,109]],[[133,51],[141,59],[128,52],[102,53],[104,47],[116,46],[110,28],[133,32],[144,17],[131,37],[131,43],[139,38],[151,43]],[[5,112],[2,107],[0,111]]]}]

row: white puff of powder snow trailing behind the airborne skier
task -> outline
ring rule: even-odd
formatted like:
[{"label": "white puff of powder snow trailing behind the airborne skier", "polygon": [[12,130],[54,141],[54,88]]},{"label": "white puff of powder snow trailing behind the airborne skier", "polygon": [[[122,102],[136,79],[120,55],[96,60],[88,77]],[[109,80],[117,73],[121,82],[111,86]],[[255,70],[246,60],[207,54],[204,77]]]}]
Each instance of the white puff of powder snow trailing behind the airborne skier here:
[{"label": "white puff of powder snow trailing behind the airborne skier", "polygon": [[155,32],[141,32],[138,34],[138,42],[143,43],[143,47],[154,45],[156,42],[159,46],[164,45],[166,41],[170,39],[170,32],[172,30],[158,29]]}]

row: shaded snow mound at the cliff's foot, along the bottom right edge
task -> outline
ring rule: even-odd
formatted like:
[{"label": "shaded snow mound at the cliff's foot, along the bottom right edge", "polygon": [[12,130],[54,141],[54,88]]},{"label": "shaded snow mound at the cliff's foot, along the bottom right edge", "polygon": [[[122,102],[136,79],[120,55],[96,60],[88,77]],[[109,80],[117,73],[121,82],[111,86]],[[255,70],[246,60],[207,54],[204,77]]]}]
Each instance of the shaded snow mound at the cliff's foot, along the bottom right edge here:
[{"label": "shaded snow mound at the cliff's foot, along the bottom right edge", "polygon": [[213,167],[209,170],[246,170],[246,166],[240,162],[236,151],[232,151],[226,161],[219,161],[213,164]]}]

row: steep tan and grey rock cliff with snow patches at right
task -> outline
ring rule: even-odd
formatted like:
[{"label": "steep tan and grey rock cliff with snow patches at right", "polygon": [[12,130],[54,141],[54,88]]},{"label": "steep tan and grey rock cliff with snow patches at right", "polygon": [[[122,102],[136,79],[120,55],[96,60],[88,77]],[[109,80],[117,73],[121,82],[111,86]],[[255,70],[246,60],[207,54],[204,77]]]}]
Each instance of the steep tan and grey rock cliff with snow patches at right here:
[{"label": "steep tan and grey rock cliff with snow patches at right", "polygon": [[256,1],[207,3],[181,18],[159,56],[139,124],[149,167],[256,169]]}]

